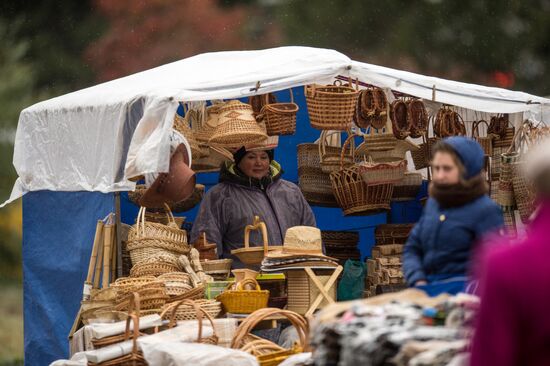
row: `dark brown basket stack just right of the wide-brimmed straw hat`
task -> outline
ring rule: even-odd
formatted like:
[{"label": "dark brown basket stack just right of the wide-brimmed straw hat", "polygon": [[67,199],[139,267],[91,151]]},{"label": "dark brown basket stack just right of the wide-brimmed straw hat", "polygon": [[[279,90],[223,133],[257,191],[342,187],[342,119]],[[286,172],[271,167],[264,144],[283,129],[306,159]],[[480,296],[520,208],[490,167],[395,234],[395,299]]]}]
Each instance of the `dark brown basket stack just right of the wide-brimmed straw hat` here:
[{"label": "dark brown basket stack just right of the wide-brimmed straw hat", "polygon": [[348,259],[361,259],[359,248],[357,248],[359,232],[323,230],[321,231],[321,238],[326,255],[338,259],[340,263]]}]

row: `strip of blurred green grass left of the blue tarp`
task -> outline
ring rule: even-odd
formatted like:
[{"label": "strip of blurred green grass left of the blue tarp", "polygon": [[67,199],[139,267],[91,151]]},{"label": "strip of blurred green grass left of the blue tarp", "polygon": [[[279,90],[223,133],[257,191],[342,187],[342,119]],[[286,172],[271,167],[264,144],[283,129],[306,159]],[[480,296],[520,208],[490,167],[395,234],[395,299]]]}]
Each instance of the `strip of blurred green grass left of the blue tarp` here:
[{"label": "strip of blurred green grass left of the blue tarp", "polygon": [[23,365],[23,288],[0,283],[0,366]]}]

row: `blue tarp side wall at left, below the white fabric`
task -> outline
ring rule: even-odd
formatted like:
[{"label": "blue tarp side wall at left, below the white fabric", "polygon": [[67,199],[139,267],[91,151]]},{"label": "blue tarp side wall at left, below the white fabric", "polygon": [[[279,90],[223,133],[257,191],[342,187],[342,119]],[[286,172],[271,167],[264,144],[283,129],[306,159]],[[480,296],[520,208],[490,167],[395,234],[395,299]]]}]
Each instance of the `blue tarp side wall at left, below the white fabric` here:
[{"label": "blue tarp side wall at left, below the white fabric", "polygon": [[29,192],[23,196],[25,364],[69,356],[67,336],[80,306],[98,219],[113,194]]}]

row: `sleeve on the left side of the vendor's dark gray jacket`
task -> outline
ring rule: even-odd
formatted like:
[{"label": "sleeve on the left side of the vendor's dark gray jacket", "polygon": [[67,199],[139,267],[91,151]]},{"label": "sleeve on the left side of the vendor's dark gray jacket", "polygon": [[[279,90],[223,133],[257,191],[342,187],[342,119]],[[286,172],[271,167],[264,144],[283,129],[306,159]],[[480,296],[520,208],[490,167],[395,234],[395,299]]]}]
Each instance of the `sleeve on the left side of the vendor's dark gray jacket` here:
[{"label": "sleeve on the left side of the vendor's dark gray jacket", "polygon": [[224,212],[225,201],[226,197],[221,194],[219,187],[215,186],[208,191],[202,199],[191,230],[192,243],[198,239],[202,232],[205,232],[206,240],[217,244],[218,256],[223,253],[222,238],[227,222]]}]

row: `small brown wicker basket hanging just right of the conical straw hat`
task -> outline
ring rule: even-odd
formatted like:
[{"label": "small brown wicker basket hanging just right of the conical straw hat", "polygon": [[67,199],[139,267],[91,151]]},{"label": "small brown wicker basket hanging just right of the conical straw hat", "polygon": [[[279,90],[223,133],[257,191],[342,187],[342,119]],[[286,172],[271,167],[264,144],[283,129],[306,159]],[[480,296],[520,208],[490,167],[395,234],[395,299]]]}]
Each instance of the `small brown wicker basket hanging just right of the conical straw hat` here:
[{"label": "small brown wicker basket hanging just right of the conical straw hat", "polygon": [[294,103],[294,94],[292,88],[290,92],[290,103],[270,103],[265,95],[265,104],[256,120],[265,122],[267,134],[275,135],[294,135],[296,132],[296,113],[298,105]]}]

